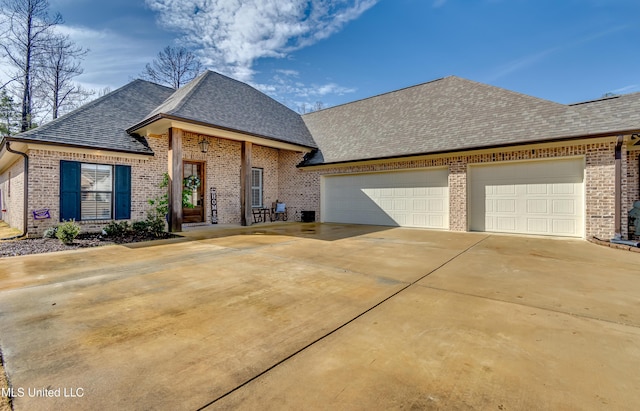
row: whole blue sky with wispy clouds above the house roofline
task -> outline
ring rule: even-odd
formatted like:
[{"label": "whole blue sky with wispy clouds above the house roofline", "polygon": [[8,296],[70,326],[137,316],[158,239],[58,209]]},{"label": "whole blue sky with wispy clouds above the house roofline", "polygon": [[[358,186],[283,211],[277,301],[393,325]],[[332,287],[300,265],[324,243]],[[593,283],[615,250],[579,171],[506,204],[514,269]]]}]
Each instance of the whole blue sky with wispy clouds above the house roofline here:
[{"label": "whole blue sky with wispy clouds above the house roofline", "polygon": [[[239,7],[239,3],[243,3]],[[115,89],[164,46],[292,108],[448,75],[572,103],[640,91],[638,0],[50,0]]]}]

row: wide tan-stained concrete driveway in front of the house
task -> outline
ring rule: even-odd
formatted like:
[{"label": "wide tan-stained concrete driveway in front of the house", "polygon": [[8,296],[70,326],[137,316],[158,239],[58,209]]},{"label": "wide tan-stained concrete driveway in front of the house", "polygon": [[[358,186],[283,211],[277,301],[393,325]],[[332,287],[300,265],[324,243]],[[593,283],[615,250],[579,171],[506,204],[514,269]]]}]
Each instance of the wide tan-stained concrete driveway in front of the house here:
[{"label": "wide tan-stained concrete driveway in front of the house", "polygon": [[347,225],[188,236],[0,260],[16,410],[640,404],[640,254]]}]

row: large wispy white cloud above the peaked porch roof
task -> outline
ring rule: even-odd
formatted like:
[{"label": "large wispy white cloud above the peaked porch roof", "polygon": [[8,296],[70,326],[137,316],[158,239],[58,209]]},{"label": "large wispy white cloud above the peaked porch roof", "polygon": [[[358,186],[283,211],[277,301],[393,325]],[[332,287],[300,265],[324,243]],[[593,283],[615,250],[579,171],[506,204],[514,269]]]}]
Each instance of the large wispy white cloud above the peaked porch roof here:
[{"label": "large wispy white cloud above the peaked porch roof", "polygon": [[[257,59],[285,57],[339,31],[379,0],[146,0],[206,66],[250,81]],[[286,74],[286,73],[282,73]]]}]

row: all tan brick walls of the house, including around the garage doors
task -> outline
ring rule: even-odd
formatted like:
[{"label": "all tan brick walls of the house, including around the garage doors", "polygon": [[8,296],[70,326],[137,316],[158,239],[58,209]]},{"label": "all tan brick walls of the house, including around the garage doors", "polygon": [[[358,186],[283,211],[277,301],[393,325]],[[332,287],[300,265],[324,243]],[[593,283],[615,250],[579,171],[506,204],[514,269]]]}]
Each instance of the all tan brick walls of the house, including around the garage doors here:
[{"label": "all tan brick walls of the house, including around the garage doors", "polygon": [[[209,152],[203,154],[198,147],[199,136],[185,133],[183,158],[202,161],[205,164],[205,216],[210,222],[209,188],[218,190],[218,221],[240,222],[240,166],[241,143],[237,141],[210,139]],[[50,226],[59,222],[59,174],[60,160],[72,160],[99,164],[128,164],[132,166],[132,219],[145,217],[149,198],[162,194],[158,187],[162,175],[167,171],[168,137],[148,138],[155,152],[153,157],[126,158],[117,154],[92,155],[70,154],[47,150],[32,150],[30,157],[30,210],[49,208],[51,220],[35,221],[29,218],[29,231],[41,235]],[[581,156],[585,159],[585,209],[586,237],[610,238],[614,234],[615,221],[615,143],[574,144],[558,148],[523,149],[505,152],[484,153],[465,156],[450,156],[431,159],[399,160],[380,164],[336,166],[326,169],[298,169],[303,154],[286,150],[276,150],[254,145],[252,163],[264,170],[264,203],[279,199],[287,203],[290,220],[299,220],[300,211],[313,210],[320,221],[320,178],[336,173],[378,172],[412,168],[448,167],[450,187],[449,224],[452,231],[467,229],[467,169],[470,165],[516,160],[536,160]],[[623,234],[628,232],[626,215],[633,202],[640,197],[640,152],[624,152],[623,155]],[[22,221],[21,204],[22,173],[21,161],[0,176],[0,187],[6,196],[8,173],[11,171],[10,213],[5,218],[12,226],[20,228]],[[15,202],[14,202],[15,201]],[[83,231],[98,231],[108,221],[82,222]]]}]

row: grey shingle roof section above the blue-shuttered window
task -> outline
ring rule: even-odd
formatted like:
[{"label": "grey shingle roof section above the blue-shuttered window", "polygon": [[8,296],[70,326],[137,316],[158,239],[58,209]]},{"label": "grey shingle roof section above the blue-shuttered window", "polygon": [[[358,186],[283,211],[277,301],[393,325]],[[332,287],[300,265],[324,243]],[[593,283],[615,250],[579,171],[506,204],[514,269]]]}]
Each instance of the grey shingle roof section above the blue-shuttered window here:
[{"label": "grey shingle roof section above the blue-shuttered window", "polygon": [[16,137],[42,143],[152,154],[146,140],[129,135],[126,128],[165,101],[173,91],[148,81],[134,80],[69,114]]}]

